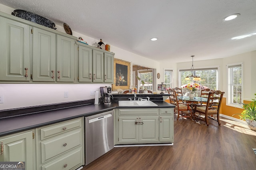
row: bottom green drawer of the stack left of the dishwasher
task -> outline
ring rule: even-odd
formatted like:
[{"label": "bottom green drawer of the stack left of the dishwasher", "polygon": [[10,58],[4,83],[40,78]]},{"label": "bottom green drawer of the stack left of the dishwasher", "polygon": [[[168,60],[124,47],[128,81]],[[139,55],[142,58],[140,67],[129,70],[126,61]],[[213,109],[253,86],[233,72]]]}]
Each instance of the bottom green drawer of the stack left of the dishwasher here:
[{"label": "bottom green drawer of the stack left of the dishwasher", "polygon": [[42,166],[42,170],[70,170],[82,166],[82,147]]}]

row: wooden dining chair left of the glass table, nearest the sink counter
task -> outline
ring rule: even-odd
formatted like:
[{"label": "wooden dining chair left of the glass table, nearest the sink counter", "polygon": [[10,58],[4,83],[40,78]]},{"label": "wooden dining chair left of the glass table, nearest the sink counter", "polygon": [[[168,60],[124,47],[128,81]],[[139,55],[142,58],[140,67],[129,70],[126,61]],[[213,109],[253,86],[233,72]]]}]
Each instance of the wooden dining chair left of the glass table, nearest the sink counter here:
[{"label": "wooden dining chair left of the glass table, nearest the sink counter", "polygon": [[177,113],[177,121],[180,117],[192,118],[192,109],[189,106],[190,104],[178,101],[176,91],[174,89],[170,89],[168,93],[170,94],[170,103],[175,105],[174,113]]}]

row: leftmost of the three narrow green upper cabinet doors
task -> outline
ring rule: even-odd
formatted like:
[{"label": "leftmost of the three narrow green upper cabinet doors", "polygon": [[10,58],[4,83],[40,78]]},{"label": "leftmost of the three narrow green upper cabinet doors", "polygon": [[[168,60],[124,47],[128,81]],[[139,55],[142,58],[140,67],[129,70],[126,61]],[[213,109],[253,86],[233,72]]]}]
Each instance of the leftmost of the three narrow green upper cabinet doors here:
[{"label": "leftmost of the three narrow green upper cabinet doors", "polygon": [[79,82],[92,82],[92,49],[79,45]]}]

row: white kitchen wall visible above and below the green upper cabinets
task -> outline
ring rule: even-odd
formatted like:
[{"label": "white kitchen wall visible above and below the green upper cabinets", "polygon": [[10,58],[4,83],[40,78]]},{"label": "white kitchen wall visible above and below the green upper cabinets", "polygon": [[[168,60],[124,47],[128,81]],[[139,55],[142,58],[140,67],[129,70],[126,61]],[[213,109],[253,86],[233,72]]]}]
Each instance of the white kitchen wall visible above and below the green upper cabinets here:
[{"label": "white kitchen wall visible above and below the green upper cabinets", "polygon": [[[14,9],[0,4],[0,11],[11,14]],[[56,28],[65,33],[62,26],[56,25]],[[72,33],[73,36],[82,37],[89,45],[99,42],[78,32],[72,31]],[[107,43],[106,41],[104,42]],[[131,63],[144,63],[143,65],[147,67],[159,70],[160,64],[157,61],[146,59],[113,45],[110,50],[115,53],[115,58]],[[4,98],[4,103],[0,103],[0,110],[94,99],[94,96],[90,95],[90,90],[100,91],[101,86],[111,86],[111,84],[0,84],[0,95]],[[64,98],[64,92],[68,92],[68,98]]]}]

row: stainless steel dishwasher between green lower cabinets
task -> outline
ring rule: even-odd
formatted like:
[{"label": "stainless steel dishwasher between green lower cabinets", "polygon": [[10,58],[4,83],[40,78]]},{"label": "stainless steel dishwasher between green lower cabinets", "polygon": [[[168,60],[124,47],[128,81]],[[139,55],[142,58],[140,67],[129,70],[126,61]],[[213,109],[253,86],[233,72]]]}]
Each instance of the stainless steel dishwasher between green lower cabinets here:
[{"label": "stainless steel dishwasher between green lower cabinets", "polygon": [[85,117],[85,165],[114,148],[114,111]]}]

